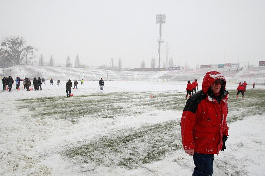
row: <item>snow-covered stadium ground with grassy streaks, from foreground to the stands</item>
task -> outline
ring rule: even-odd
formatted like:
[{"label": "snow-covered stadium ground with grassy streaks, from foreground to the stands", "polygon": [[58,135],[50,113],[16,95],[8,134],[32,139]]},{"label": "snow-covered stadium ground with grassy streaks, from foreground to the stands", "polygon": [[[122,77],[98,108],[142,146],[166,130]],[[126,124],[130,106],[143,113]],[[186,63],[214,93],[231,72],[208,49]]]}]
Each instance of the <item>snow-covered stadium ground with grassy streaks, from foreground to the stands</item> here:
[{"label": "snow-covered stadium ground with grassy streaks, from foreground to the stands", "polygon": [[[0,92],[0,175],[192,174],[179,126],[186,82],[105,81],[101,92],[98,82],[79,81],[71,98],[66,81],[45,83],[41,91],[21,85]],[[213,175],[265,175],[264,97],[258,101],[259,113],[251,113],[255,106],[247,94],[229,106],[228,121],[234,120]]]}]

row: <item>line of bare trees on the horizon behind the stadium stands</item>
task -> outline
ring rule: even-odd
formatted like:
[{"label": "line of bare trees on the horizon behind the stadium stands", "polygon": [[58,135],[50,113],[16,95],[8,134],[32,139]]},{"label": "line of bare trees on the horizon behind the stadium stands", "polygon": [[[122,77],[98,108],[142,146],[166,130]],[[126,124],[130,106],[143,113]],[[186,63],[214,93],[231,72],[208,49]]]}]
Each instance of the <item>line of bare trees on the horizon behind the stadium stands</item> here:
[{"label": "line of bare trees on the horizon behind the stadium stands", "polygon": [[[15,65],[30,64],[34,58],[34,51],[38,51],[34,46],[27,46],[26,40],[23,37],[10,36],[2,39],[0,48],[0,68],[8,68]],[[165,62],[163,65],[166,65]],[[173,59],[169,59],[169,67],[174,67]],[[39,66],[55,66],[53,55],[50,56],[49,62],[44,62],[44,55],[41,53],[39,57]],[[79,55],[76,55],[74,66],[71,63],[69,55],[66,59],[65,67],[86,68],[86,65],[81,64]],[[142,60],[141,67],[145,68],[145,61]],[[151,58],[151,68],[156,68],[156,58]],[[99,69],[122,70],[122,61],[119,58],[118,66],[114,66],[114,59],[111,57],[109,66],[100,65]]]}]

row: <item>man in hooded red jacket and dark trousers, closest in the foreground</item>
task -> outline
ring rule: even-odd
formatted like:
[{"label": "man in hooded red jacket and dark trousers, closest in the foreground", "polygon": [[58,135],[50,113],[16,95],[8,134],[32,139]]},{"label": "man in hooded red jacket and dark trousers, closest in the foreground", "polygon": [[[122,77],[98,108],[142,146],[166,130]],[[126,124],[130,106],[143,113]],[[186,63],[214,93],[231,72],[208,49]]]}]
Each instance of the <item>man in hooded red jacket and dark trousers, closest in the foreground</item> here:
[{"label": "man in hooded red jacket and dark trousers, closest in the foreground", "polygon": [[228,91],[225,77],[207,72],[202,90],[188,99],[181,117],[181,137],[185,152],[193,156],[193,176],[212,175],[214,155],[224,151],[228,136],[226,116]]}]

